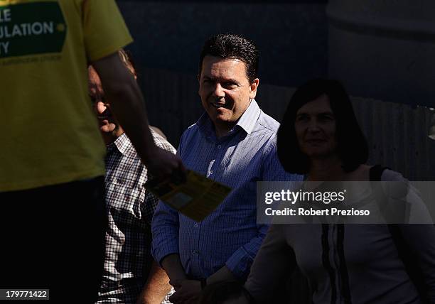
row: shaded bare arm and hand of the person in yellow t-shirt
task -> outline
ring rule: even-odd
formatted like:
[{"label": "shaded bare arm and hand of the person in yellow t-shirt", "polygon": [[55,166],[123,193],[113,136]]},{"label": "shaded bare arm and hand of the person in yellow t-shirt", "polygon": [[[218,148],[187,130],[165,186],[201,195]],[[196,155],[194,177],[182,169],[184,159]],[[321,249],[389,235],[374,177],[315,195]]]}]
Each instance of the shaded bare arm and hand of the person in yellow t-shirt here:
[{"label": "shaded bare arm and hand of the person in yellow t-shirt", "polygon": [[176,170],[184,170],[178,156],[154,144],[144,97],[118,53],[97,60],[92,66],[100,76],[114,115],[151,174],[158,178],[168,178]]}]

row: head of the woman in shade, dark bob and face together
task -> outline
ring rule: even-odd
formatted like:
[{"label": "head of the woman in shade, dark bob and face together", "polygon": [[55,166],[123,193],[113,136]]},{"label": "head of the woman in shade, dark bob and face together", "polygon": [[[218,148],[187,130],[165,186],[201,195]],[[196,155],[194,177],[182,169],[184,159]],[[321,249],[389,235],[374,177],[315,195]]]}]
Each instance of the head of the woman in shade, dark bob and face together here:
[{"label": "head of the woman in shade, dark bob and face together", "polygon": [[[313,121],[310,117],[312,114],[318,116],[318,129],[308,130],[308,124]],[[328,130],[331,127],[333,130]],[[308,139],[303,138],[304,134],[297,134],[297,131],[309,131],[310,134],[306,134]],[[328,134],[331,131],[333,134]],[[330,142],[324,145],[323,140]],[[327,161],[340,163],[338,168],[345,173],[367,170],[367,166],[363,165],[368,158],[367,141],[358,125],[348,94],[336,80],[311,80],[296,90],[279,128],[277,145],[279,161],[289,172],[306,174],[311,169],[311,175],[318,173],[316,168],[310,168],[310,165],[318,163],[316,154],[321,156],[323,165]],[[326,159],[326,155],[335,157]],[[328,170],[322,171],[328,178],[334,177]]]}]

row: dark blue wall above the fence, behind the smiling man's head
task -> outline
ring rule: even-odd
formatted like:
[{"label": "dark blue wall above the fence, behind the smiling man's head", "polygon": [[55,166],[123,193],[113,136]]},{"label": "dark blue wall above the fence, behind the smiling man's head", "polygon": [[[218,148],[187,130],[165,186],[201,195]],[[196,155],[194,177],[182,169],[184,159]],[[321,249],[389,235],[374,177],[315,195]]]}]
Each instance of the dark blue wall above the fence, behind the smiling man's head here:
[{"label": "dark blue wall above the fence, behind the smiling man's head", "polygon": [[196,73],[206,38],[238,33],[259,50],[260,79],[294,87],[328,74],[326,1],[118,1],[139,66]]}]

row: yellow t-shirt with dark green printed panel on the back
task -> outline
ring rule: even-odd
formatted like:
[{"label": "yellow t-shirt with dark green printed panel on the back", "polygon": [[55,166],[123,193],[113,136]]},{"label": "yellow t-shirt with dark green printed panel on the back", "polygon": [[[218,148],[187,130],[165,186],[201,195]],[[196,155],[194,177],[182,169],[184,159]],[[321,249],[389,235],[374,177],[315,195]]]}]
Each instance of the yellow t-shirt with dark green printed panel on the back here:
[{"label": "yellow t-shirt with dark green printed panel on the back", "polygon": [[131,41],[114,0],[0,0],[0,192],[104,175],[87,63]]}]

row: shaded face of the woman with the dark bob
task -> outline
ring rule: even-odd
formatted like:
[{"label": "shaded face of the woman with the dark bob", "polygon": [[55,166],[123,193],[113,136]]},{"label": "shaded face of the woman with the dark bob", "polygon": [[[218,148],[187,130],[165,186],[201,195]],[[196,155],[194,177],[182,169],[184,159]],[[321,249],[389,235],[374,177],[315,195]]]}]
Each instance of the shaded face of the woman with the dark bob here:
[{"label": "shaded face of the woman with the dark bob", "polygon": [[309,158],[335,154],[335,116],[326,94],[304,104],[296,112],[294,129],[299,148]]}]

